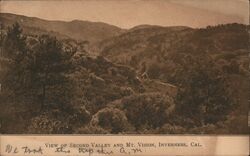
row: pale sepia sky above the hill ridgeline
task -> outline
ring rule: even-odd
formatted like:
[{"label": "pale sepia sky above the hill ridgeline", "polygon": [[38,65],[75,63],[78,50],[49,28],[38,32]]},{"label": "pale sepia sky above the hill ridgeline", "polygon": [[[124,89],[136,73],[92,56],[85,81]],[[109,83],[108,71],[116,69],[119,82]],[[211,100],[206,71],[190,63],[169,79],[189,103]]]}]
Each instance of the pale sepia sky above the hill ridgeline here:
[{"label": "pale sepia sky above the hill ridgeline", "polygon": [[0,12],[47,20],[105,22],[121,28],[249,24],[248,0],[2,0]]}]

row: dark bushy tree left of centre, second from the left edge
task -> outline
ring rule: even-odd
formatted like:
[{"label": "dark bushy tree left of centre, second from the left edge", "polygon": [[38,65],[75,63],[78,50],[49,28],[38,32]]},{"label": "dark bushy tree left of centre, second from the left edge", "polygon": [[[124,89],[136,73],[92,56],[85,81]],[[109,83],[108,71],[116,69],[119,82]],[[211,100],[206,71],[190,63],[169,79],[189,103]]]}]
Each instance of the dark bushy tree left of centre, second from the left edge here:
[{"label": "dark bushy tree left of centre, second from the left edge", "polygon": [[69,101],[69,99],[66,100],[69,96],[66,94],[70,90],[67,78],[70,57],[69,53],[64,52],[62,43],[55,37],[42,35],[38,38],[31,70],[33,84],[38,89],[41,110],[44,109],[45,103],[55,106]]}]

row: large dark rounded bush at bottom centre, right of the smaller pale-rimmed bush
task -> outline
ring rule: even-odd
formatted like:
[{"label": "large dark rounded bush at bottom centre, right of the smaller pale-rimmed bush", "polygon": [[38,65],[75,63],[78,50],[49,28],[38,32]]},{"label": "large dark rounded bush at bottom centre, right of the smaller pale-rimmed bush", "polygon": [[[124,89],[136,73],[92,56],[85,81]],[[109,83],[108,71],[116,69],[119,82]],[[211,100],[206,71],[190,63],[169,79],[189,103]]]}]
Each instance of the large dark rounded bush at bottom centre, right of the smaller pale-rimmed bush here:
[{"label": "large dark rounded bush at bottom centre, right of the smaller pale-rimmed bush", "polygon": [[152,128],[162,126],[174,108],[172,98],[157,93],[129,96],[122,100],[122,105],[129,122],[137,130],[145,125]]}]

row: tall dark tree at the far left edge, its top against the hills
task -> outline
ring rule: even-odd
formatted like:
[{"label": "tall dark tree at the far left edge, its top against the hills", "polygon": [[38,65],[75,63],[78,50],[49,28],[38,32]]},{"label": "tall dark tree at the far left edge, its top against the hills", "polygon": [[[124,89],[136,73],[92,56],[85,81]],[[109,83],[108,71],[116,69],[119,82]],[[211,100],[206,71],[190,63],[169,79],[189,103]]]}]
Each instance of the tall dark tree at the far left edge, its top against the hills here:
[{"label": "tall dark tree at the far left edge, its top against the hills", "polygon": [[3,89],[11,90],[12,93],[17,94],[22,92],[26,83],[27,73],[25,71],[28,63],[26,36],[22,34],[22,29],[18,23],[8,27],[1,46],[1,62],[5,67],[1,78]]}]

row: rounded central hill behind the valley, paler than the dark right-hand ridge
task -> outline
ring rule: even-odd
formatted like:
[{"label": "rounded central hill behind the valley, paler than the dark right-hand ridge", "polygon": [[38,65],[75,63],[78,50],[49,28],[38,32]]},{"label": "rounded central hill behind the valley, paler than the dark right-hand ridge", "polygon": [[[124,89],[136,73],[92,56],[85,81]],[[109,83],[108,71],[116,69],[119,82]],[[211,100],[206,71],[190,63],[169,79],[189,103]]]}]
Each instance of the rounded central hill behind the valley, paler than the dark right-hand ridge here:
[{"label": "rounded central hill behind the valley, paler than the dark right-hand ridge", "polygon": [[[112,39],[102,41],[101,55],[134,67],[160,57],[163,50],[193,33],[189,27],[137,26]],[[162,53],[163,54],[163,53]],[[136,65],[134,64],[136,63]]]}]

